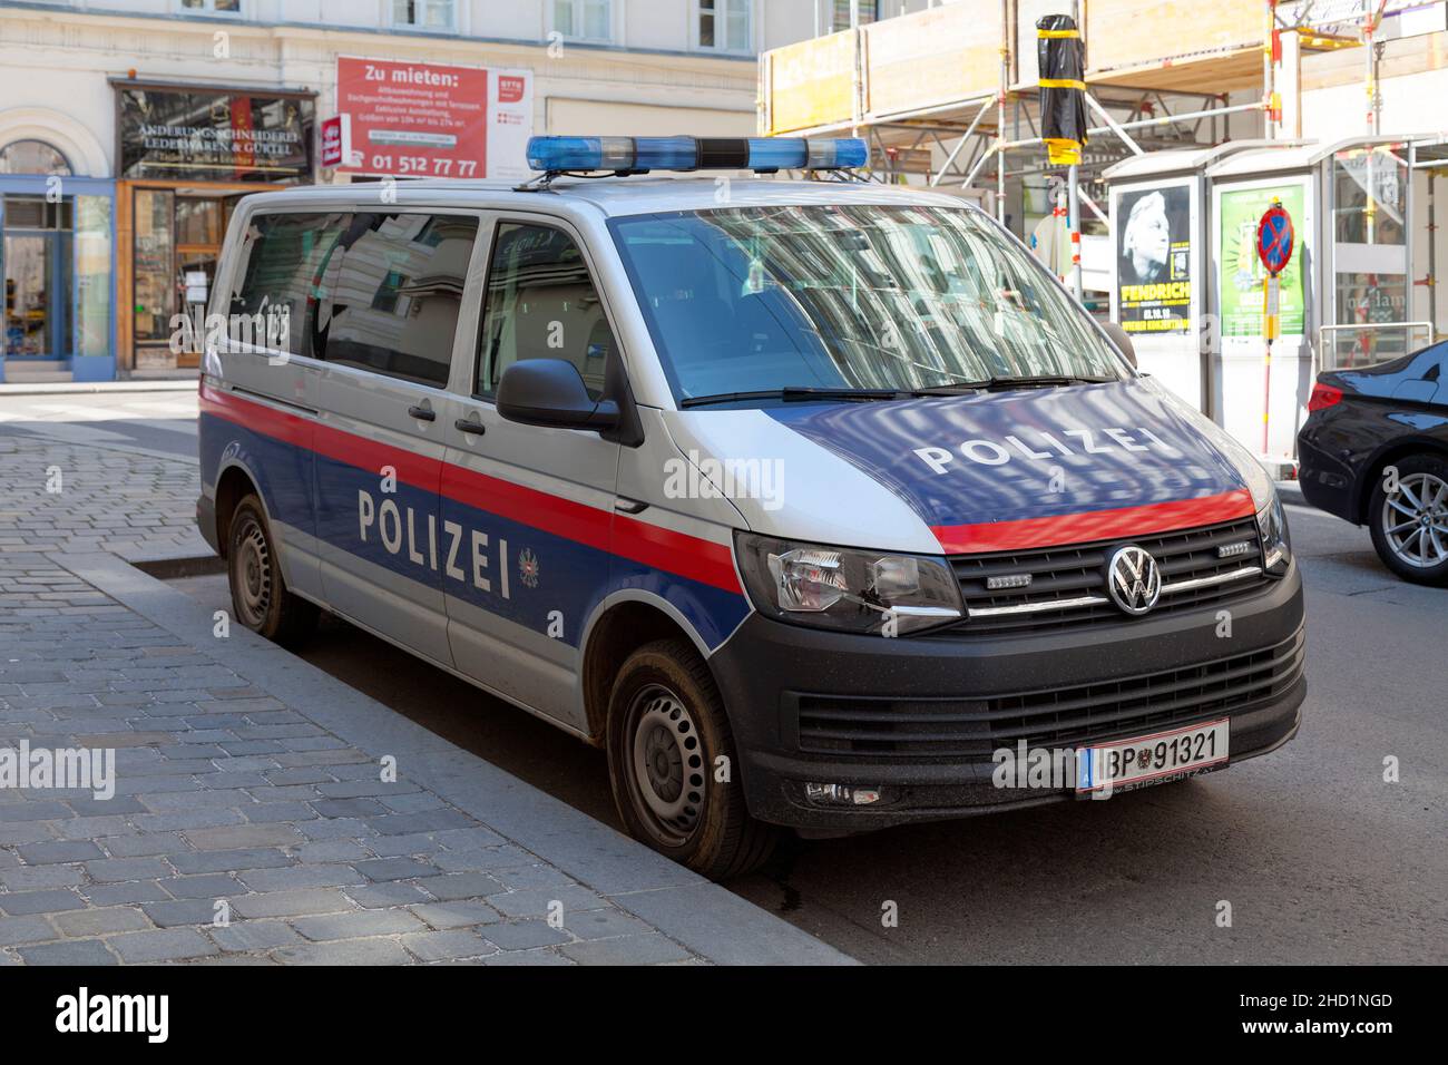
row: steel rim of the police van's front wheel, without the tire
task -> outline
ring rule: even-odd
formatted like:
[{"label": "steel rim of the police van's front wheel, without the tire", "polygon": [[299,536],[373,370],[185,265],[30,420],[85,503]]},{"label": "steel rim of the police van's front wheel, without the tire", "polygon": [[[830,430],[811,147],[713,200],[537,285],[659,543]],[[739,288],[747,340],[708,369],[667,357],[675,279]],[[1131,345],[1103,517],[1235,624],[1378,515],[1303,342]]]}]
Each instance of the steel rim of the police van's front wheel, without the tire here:
[{"label": "steel rim of the police van's front wheel, without the tire", "polygon": [[662,684],[650,684],[628,706],[628,791],[634,807],[663,842],[679,846],[704,817],[704,746],[688,706]]}]

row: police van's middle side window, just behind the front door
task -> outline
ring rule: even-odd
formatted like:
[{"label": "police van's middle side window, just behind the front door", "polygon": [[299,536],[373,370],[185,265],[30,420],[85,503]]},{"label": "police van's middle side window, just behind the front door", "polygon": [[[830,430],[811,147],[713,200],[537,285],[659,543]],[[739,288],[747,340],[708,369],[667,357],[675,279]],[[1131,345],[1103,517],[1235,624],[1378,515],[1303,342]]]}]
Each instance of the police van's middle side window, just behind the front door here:
[{"label": "police van's middle side window, just behind the front door", "polygon": [[319,358],[417,384],[447,384],[478,220],[358,213],[324,272]]}]

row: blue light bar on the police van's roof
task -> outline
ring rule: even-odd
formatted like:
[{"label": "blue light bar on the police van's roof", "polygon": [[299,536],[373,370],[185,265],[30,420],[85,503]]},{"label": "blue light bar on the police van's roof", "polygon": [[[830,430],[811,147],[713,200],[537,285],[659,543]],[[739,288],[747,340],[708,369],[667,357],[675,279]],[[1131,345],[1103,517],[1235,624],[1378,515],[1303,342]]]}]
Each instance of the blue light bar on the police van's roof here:
[{"label": "blue light bar on the police van's roof", "polygon": [[859,138],[534,136],[529,167],[544,172],[611,170],[849,170],[869,149]]}]

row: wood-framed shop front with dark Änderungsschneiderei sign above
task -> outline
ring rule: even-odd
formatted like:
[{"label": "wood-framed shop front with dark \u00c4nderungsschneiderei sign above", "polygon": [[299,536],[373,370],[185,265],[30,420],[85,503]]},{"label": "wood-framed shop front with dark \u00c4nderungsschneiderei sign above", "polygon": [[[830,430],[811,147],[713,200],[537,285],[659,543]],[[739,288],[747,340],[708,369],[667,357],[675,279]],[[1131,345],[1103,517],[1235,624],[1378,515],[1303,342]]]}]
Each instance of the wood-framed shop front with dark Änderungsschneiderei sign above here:
[{"label": "wood-framed shop front with dark \u00c4nderungsschneiderei sign above", "polygon": [[116,81],[117,287],[123,375],[200,365],[232,206],[313,180],[314,93]]}]

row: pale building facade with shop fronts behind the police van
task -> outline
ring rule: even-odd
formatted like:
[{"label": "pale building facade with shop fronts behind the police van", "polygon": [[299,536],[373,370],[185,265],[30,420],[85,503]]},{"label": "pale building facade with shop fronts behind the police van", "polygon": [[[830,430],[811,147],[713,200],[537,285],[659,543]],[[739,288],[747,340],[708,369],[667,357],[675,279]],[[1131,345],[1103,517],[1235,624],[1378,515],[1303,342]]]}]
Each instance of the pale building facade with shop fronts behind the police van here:
[{"label": "pale building facade with shop fronts behind the police van", "polygon": [[[353,106],[339,99],[349,62],[401,68],[423,85],[449,77],[437,71],[507,72],[489,84],[518,87],[518,126],[498,141],[510,154],[529,133],[746,136],[759,52],[811,36],[835,7],[3,0],[0,380],[194,372],[198,355],[174,322],[206,303],[236,197],[442,172],[408,170],[427,158],[405,146],[420,136],[408,130],[395,152],[323,165],[326,119]],[[403,91],[404,104],[416,100]],[[459,96],[450,106],[468,107]],[[492,172],[511,172],[495,162]]]}]

